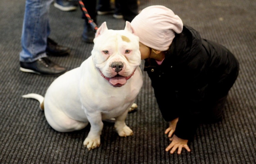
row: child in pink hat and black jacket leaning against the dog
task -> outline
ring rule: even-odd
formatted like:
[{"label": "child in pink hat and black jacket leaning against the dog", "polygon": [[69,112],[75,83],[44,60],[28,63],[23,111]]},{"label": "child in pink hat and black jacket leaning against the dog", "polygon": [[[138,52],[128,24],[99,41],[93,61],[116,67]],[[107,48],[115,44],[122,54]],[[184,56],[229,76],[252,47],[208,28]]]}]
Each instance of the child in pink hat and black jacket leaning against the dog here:
[{"label": "child in pink hat and black jacket leaning against the dog", "polygon": [[227,94],[239,63],[225,47],[202,39],[164,6],[145,8],[131,22],[163,118],[169,121],[170,153],[184,147],[198,123],[214,123],[223,115]]}]

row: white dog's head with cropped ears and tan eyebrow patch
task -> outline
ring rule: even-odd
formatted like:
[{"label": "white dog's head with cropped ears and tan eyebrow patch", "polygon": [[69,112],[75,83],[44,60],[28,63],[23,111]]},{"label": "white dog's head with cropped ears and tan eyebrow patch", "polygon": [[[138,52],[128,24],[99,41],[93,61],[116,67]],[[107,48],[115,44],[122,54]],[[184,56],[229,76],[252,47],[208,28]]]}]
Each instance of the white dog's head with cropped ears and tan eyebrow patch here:
[{"label": "white dog's head with cropped ears and tan eyebrow patch", "polygon": [[124,30],[109,30],[102,23],[94,38],[92,58],[102,77],[113,87],[121,87],[140,65],[139,37],[126,21]]}]

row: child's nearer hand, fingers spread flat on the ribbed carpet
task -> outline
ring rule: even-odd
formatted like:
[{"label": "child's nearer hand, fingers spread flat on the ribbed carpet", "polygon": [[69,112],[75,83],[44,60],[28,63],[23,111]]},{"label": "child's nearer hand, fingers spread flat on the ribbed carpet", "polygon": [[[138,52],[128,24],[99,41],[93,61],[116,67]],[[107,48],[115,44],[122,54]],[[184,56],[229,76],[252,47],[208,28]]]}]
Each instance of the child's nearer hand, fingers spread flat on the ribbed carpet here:
[{"label": "child's nearer hand, fingers spread flat on the ribbed carpet", "polygon": [[172,142],[171,142],[171,144],[169,144],[168,147],[166,147],[165,151],[169,151],[170,149],[172,149],[170,151],[170,153],[172,154],[178,148],[177,153],[180,154],[182,148],[184,147],[187,151],[190,152],[190,148],[187,146],[188,140],[184,140],[184,139],[178,138],[176,135],[173,135],[173,137],[170,138],[170,141],[172,141]]}]

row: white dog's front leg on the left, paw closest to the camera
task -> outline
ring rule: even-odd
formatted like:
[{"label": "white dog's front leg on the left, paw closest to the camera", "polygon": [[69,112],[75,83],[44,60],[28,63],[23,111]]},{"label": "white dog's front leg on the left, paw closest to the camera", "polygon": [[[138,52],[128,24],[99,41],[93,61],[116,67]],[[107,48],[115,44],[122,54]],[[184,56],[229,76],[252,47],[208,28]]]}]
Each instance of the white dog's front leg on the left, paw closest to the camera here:
[{"label": "white dog's front leg on the left, paw closest to the camera", "polygon": [[87,147],[87,149],[91,150],[99,147],[103,122],[100,112],[88,112],[86,116],[88,121],[90,122],[91,128],[87,138],[85,138],[84,140],[84,146]]}]

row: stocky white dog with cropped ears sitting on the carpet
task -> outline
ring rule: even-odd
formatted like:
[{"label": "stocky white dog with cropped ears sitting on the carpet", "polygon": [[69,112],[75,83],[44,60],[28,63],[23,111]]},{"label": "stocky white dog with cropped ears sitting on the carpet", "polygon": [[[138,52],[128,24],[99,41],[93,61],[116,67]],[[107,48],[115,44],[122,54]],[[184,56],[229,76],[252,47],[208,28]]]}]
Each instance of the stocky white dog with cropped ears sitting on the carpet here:
[{"label": "stocky white dog with cropped ears sitting on the carpet", "polygon": [[59,76],[48,88],[45,97],[34,98],[44,108],[50,126],[59,132],[91,128],[84,146],[98,147],[102,120],[115,118],[119,136],[133,135],[125,118],[142,87],[139,68],[139,37],[129,22],[124,30],[109,30],[102,23],[96,32],[91,56],[80,67]]}]

